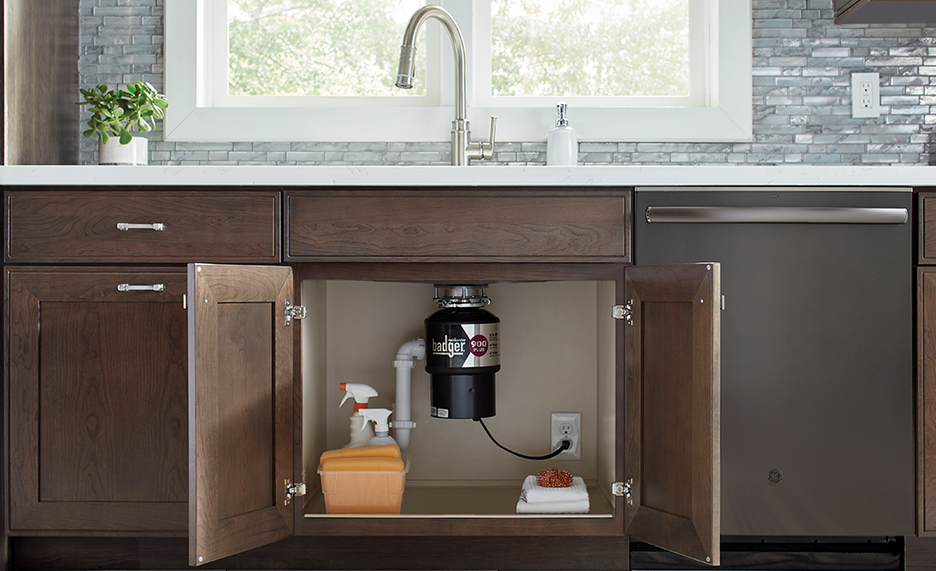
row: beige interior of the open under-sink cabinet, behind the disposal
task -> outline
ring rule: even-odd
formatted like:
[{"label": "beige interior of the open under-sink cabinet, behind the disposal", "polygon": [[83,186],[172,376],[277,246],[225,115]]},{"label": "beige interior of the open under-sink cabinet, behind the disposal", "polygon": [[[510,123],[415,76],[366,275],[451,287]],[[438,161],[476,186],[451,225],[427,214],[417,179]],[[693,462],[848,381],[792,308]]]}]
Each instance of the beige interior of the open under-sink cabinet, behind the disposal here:
[{"label": "beige interior of the open under-sink cabinet, behind the disposal", "polygon": [[[412,373],[411,431],[401,516],[517,516],[525,476],[562,468],[590,491],[588,515],[614,516],[616,371],[613,281],[495,283],[490,313],[501,319],[497,414],[485,419],[505,447],[547,454],[550,413],[581,413],[581,459],[529,461],[490,441],[470,419],[430,416],[424,361]],[[339,384],[366,383],[379,396],[370,407],[394,408],[393,360],[403,343],[423,337],[423,319],[437,310],[425,283],[315,281],[301,284],[302,471],[307,518],[329,517],[317,474],[325,450],[344,447],[352,404],[339,407]],[[393,417],[391,416],[392,420]],[[391,429],[391,435],[393,431]],[[344,516],[347,517],[347,516]],[[543,517],[543,516],[537,516]]]}]

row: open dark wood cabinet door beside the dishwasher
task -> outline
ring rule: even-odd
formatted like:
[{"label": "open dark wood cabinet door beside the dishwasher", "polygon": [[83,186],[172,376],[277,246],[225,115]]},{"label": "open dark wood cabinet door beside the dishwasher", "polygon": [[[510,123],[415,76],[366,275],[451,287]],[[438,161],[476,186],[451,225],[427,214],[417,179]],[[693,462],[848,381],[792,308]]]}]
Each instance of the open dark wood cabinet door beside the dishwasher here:
[{"label": "open dark wood cabinet door beside the dishwasher", "polygon": [[627,268],[624,534],[719,564],[719,265]]}]

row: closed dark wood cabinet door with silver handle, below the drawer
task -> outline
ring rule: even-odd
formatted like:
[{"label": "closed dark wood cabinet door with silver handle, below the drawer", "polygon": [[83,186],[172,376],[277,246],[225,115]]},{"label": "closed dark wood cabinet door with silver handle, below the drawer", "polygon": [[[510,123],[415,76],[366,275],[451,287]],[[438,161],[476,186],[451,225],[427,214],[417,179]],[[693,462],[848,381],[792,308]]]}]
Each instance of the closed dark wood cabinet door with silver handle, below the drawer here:
[{"label": "closed dark wood cabinet door with silver handle, below the drawer", "polygon": [[183,531],[184,273],[14,269],[7,284],[10,529]]}]

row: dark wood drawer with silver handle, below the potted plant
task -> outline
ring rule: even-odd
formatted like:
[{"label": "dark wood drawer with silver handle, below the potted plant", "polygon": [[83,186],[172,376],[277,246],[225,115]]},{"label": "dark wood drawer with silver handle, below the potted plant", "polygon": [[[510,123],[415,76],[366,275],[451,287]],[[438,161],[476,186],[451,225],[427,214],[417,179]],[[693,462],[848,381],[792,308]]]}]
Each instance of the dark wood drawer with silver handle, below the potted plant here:
[{"label": "dark wood drawer with silver handle, below the potted plant", "polygon": [[276,191],[8,191],[6,260],[279,261]]}]

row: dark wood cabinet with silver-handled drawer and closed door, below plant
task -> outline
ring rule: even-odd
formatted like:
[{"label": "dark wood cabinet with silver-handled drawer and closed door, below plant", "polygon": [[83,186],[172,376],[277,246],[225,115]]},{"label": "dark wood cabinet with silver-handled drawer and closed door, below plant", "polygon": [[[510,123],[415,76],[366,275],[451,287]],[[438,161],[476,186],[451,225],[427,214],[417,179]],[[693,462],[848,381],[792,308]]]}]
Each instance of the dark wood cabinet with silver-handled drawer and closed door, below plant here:
[{"label": "dark wood cabinet with silver-handled drawer and closed door, below plant", "polygon": [[5,202],[8,533],[187,534],[185,269],[95,264],[276,263],[280,193]]}]

